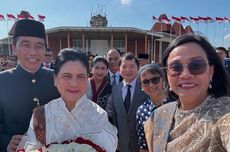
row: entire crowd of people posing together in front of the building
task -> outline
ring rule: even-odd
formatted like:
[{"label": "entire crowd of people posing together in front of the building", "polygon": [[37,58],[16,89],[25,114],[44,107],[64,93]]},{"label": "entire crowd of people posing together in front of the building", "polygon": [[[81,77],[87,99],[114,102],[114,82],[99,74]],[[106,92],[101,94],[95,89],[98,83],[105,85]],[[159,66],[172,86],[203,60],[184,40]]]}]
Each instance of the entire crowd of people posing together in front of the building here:
[{"label": "entire crowd of people posing together in front of the building", "polygon": [[12,49],[17,64],[0,72],[1,152],[79,136],[107,152],[230,151],[228,52],[202,36],[173,40],[161,64],[116,48],[90,58],[65,48],[54,60],[44,25],[19,20]]}]

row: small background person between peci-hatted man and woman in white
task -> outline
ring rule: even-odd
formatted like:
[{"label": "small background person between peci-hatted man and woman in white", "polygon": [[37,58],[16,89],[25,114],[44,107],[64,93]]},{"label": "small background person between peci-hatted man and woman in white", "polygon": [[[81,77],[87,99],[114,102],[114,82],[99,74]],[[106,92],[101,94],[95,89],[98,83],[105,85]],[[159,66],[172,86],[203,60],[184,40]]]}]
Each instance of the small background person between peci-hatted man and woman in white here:
[{"label": "small background person between peci-hatted man and woman in white", "polygon": [[50,48],[46,49],[45,59],[44,62],[42,63],[42,66],[49,69],[54,69],[53,52]]}]

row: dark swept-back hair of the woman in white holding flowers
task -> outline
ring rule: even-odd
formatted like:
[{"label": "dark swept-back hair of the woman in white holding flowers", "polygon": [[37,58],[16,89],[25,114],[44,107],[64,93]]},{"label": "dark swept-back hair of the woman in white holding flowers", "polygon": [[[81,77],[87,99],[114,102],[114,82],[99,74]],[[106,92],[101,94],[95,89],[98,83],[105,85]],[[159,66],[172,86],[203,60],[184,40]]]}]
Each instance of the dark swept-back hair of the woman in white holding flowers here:
[{"label": "dark swept-back hair of the woman in white holding flowers", "polygon": [[83,67],[85,67],[87,74],[89,72],[88,59],[84,52],[80,50],[75,50],[72,48],[62,49],[56,58],[54,74],[57,75],[62,67],[62,65],[68,61],[79,61]]}]

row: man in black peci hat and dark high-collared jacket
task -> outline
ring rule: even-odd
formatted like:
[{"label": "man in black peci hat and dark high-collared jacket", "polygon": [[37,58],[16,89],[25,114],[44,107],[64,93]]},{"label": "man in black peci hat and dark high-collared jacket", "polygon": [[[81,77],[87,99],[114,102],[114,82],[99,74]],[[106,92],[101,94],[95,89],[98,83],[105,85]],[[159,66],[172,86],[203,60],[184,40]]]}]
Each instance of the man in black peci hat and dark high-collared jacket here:
[{"label": "man in black peci hat and dark high-collared jacket", "polygon": [[29,127],[33,109],[60,96],[53,72],[41,67],[46,49],[42,23],[18,20],[12,49],[19,65],[0,73],[1,152],[15,152]]}]

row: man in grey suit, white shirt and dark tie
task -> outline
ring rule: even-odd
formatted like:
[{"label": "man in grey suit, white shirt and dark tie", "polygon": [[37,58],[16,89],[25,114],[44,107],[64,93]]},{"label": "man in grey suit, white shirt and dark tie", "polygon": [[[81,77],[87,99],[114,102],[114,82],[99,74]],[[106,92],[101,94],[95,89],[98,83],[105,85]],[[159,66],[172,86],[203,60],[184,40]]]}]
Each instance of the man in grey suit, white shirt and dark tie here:
[{"label": "man in grey suit, white shirt and dark tie", "polygon": [[122,82],[112,89],[111,117],[118,129],[118,145],[120,152],[138,152],[136,133],[136,111],[147,99],[141,91],[137,78],[139,62],[131,53],[124,54],[120,62]]}]

